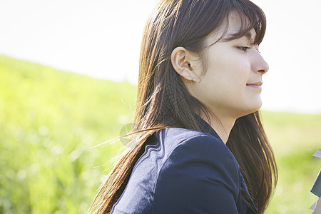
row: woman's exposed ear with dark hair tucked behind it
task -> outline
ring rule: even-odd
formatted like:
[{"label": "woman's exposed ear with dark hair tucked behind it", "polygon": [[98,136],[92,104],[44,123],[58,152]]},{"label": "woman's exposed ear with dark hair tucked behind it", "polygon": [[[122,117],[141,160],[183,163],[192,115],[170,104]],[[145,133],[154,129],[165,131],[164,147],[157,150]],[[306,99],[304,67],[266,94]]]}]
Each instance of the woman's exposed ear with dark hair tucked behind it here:
[{"label": "woman's exposed ear with dark hair tucked behind it", "polygon": [[195,69],[193,69],[197,63],[195,54],[192,54],[183,47],[177,47],[170,55],[170,62],[175,71],[183,77],[183,79],[193,82],[200,81],[200,77]]}]

